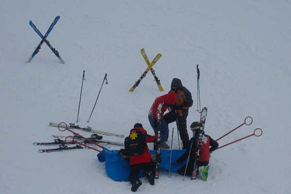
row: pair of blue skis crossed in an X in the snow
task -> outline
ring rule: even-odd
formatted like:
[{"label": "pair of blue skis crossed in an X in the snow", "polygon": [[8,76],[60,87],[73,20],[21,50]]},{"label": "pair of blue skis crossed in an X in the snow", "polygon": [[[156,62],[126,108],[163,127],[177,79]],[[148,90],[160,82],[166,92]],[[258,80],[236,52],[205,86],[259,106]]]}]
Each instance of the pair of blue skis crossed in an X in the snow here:
[{"label": "pair of blue skis crossed in an X in the snow", "polygon": [[28,61],[26,63],[30,63],[33,59],[33,57],[39,52],[39,49],[41,47],[41,45],[45,42],[49,48],[52,50],[52,52],[58,57],[58,59],[60,60],[60,62],[62,64],[65,64],[65,61],[60,57],[59,52],[54,49],[50,44],[49,41],[47,40],[47,37],[49,35],[49,32],[52,30],[52,28],[54,27],[54,25],[56,25],[57,21],[60,19],[60,16],[56,16],[56,18],[54,19],[54,21],[51,23],[49,30],[47,31],[47,33],[43,36],[41,32],[39,32],[39,30],[35,27],[35,25],[32,23],[32,21],[29,22],[29,24],[31,25],[32,29],[42,38],[40,43],[38,44],[38,46],[36,47],[36,49],[33,51],[32,56],[28,59]]}]

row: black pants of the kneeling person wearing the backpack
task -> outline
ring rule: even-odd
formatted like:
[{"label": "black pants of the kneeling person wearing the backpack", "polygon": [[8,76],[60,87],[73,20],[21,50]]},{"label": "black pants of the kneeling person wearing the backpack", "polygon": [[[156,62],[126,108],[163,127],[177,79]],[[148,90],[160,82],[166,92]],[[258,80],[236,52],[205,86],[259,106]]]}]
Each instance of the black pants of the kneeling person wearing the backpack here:
[{"label": "black pants of the kneeling person wearing the backpack", "polygon": [[151,171],[153,175],[155,174],[155,165],[153,162],[145,162],[130,165],[129,181],[131,184],[138,179],[139,172],[144,168],[145,173]]}]

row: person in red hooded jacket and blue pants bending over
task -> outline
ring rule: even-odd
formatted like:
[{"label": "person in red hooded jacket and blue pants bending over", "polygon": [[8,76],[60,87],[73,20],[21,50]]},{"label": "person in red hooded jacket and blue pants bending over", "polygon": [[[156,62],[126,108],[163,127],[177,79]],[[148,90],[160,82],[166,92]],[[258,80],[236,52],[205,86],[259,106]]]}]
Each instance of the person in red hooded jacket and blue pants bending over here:
[{"label": "person in red hooded jacket and blue pants bending over", "polygon": [[[151,108],[148,112],[148,120],[149,120],[151,127],[155,131],[155,135],[158,134],[157,110],[158,110],[159,105],[160,104],[162,105],[162,115],[161,116],[163,116],[164,112],[168,109],[168,107],[170,105],[175,104],[175,101],[176,101],[176,94],[172,94],[172,93],[163,95],[161,97],[157,97],[155,99],[153,105],[151,106]],[[168,132],[169,132],[168,124],[165,122],[165,120],[162,117],[162,120],[161,120],[161,148],[162,149],[170,148],[165,142]],[[156,143],[154,143],[154,149],[156,149]]]}]

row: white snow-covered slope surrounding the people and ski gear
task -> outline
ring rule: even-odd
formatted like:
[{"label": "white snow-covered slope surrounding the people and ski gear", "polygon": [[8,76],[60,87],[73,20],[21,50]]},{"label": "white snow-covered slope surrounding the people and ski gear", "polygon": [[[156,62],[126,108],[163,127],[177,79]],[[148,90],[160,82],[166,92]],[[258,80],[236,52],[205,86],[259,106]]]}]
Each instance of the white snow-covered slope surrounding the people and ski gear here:
[{"label": "white snow-covered slope surrounding the people and ski gear", "polygon": [[[79,125],[128,135],[137,122],[153,134],[147,113],[158,96],[180,78],[193,95],[189,126],[196,112],[196,65],[200,68],[201,107],[208,107],[206,134],[218,139],[251,116],[219,144],[260,128],[252,136],[211,154],[207,182],[182,180],[161,172],[151,186],[145,178],[138,193],[287,194],[291,182],[291,2],[289,0],[1,0],[0,1],[0,193],[131,193],[129,182],[115,182],[82,149],[39,153],[51,135],[71,135],[49,122]],[[65,60],[59,63],[47,45],[25,64],[56,16],[48,36]],[[154,66],[164,92],[148,74],[133,93],[130,87],[146,69],[141,49]],[[87,123],[104,75],[95,110]],[[173,148],[178,149],[176,124]],[[78,131],[89,137],[91,133]],[[123,142],[123,138],[103,136]],[[171,141],[168,142],[169,144]],[[50,146],[51,147],[51,146]],[[120,146],[107,146],[120,149]],[[152,145],[149,145],[152,148]]]}]

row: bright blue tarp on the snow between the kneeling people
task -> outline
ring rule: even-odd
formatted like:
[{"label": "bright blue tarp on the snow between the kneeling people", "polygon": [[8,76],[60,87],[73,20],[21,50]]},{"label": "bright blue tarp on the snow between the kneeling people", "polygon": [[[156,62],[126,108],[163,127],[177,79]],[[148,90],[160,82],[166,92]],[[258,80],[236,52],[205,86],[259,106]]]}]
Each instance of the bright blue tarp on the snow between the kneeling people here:
[{"label": "bright blue tarp on the snow between the kneeling people", "polygon": [[[103,151],[106,154],[99,153],[97,155],[98,160],[100,162],[105,162],[105,168],[107,175],[113,180],[119,181],[129,181],[129,161],[124,160],[118,154],[119,150],[109,150],[104,148]],[[156,154],[156,150],[150,150],[151,154]],[[181,163],[175,163],[174,161],[178,159],[185,153],[185,149],[183,150],[172,150],[172,160],[171,160],[171,171],[176,171],[180,167],[186,164],[187,160]],[[161,150],[162,154],[162,162],[160,163],[160,168],[169,170],[170,167],[170,150]],[[144,172],[141,171],[139,174],[139,178],[144,177]]]}]

